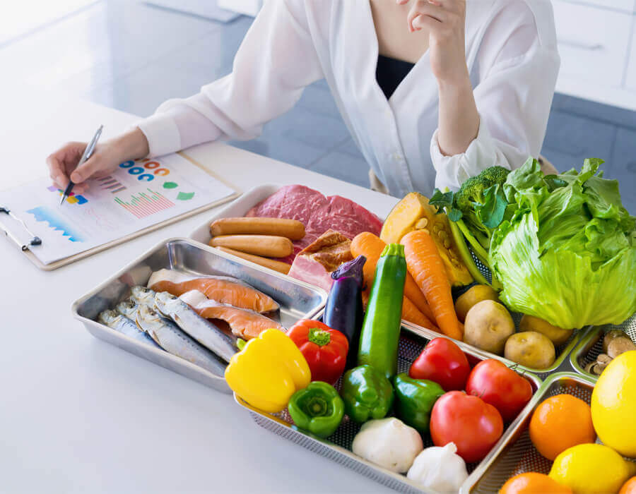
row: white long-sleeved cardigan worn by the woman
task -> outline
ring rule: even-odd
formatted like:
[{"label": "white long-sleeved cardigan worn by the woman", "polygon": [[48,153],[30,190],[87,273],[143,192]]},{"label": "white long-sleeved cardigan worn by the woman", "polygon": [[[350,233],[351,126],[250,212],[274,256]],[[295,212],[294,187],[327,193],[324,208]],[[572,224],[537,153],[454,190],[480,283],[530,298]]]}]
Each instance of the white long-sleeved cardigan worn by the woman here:
[{"label": "white long-sleeved cardigan worn by the woman", "polygon": [[468,0],[466,9],[466,61],[481,124],[461,155],[444,156],[437,145],[439,98],[428,52],[389,100],[379,88],[369,0],[267,0],[232,73],[163,103],[139,128],[153,156],[219,138],[252,139],[305,86],[325,78],[392,195],[457,189],[493,164],[519,167],[541,150],[560,64],[550,1]]}]

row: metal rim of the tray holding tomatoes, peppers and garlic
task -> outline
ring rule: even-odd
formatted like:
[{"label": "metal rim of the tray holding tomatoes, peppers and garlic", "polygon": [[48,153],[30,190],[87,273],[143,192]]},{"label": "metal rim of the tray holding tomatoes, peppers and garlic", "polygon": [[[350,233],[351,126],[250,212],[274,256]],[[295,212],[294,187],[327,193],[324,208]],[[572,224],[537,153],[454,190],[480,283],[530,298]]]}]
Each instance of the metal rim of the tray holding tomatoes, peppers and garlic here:
[{"label": "metal rim of the tray holding tomatoes, peppers and garlic", "polygon": [[[322,311],[319,311],[319,313],[317,313],[315,318],[319,318],[320,315],[322,315]],[[422,330],[422,329],[420,329],[419,326],[405,325],[403,323],[402,328],[408,330],[409,332],[413,332],[413,334],[415,334],[415,335],[418,335],[420,337],[424,337],[424,338],[427,338],[427,339],[432,339],[432,338],[438,337],[437,332],[430,331],[430,330]],[[461,348],[462,351],[467,351],[467,352],[469,352],[469,354],[473,354],[473,356],[477,356],[478,358],[481,358],[481,359],[489,359],[490,358],[487,355],[487,352],[482,352],[482,351],[478,351],[477,349],[473,349],[473,347],[471,347],[468,344],[465,344],[464,342],[458,342],[458,341],[455,341],[455,340],[454,340],[454,342],[456,342],[458,344],[458,346]],[[534,391],[534,394],[533,394],[533,399],[534,399],[534,397],[537,394],[539,394],[539,392],[541,391],[541,389],[542,389],[542,387],[544,385],[543,380],[541,378],[539,378],[538,375],[536,375],[534,373],[531,373],[529,370],[526,370],[526,368],[523,368],[522,366],[519,366],[518,368],[520,368],[523,371],[524,376],[526,376],[527,378],[529,378],[532,381],[534,381],[534,383],[536,385],[536,390]],[[396,474],[395,472],[392,472],[392,471],[389,471],[387,469],[384,469],[382,466],[378,466],[376,464],[372,464],[370,462],[367,462],[367,460],[365,460],[365,459],[363,459],[361,457],[358,457],[357,454],[353,454],[353,452],[351,452],[349,450],[346,450],[345,448],[343,448],[341,446],[335,445],[334,443],[326,441],[326,440],[319,440],[317,438],[313,438],[311,435],[307,435],[307,434],[303,433],[302,430],[298,430],[298,429],[293,428],[289,423],[287,423],[285,421],[282,421],[280,418],[278,418],[276,416],[273,416],[271,414],[268,414],[268,413],[266,413],[264,411],[261,411],[259,409],[254,408],[253,406],[251,406],[247,402],[245,402],[242,398],[237,396],[236,393],[234,393],[234,398],[235,398],[235,401],[237,402],[237,404],[239,404],[243,408],[249,410],[250,413],[256,414],[256,415],[261,416],[263,418],[266,418],[269,421],[273,421],[273,422],[277,423],[279,426],[288,428],[290,430],[294,430],[296,433],[302,435],[303,438],[309,438],[312,441],[316,442],[317,444],[322,445],[323,447],[326,447],[326,448],[334,450],[334,451],[336,451],[338,453],[344,454],[349,459],[352,459],[355,462],[361,462],[361,463],[365,464],[365,466],[367,466],[368,468],[373,469],[373,470],[379,472],[380,474],[391,476],[391,478],[394,478],[396,481],[404,483],[404,484],[408,485],[409,487],[416,488],[420,492],[434,492],[434,491],[423,490],[423,487],[420,486],[420,484],[413,483],[412,481],[408,480],[408,478],[406,478],[406,476],[401,475],[401,474]],[[495,452],[498,452],[500,450],[500,448],[502,447],[502,445],[505,444],[505,441],[507,440],[508,436],[514,430],[517,430],[517,428],[519,427],[519,423],[529,413],[529,410],[531,410],[531,408],[529,408],[529,407],[534,406],[533,405],[533,399],[531,399],[526,404],[524,409],[522,409],[522,411],[519,412],[519,415],[517,416],[517,418],[515,418],[514,421],[512,421],[510,423],[510,425],[507,427],[507,429],[502,434],[501,438],[492,447],[492,449],[485,456],[485,458],[483,460],[481,460],[481,462],[478,464],[478,466],[476,467],[475,471],[480,469],[480,466],[484,462],[488,462],[488,464],[490,464],[493,461],[493,459],[495,457]],[[473,473],[474,473],[474,471],[473,471]],[[466,479],[464,484],[466,482],[468,482],[470,478],[471,478],[471,476],[469,476]],[[464,486],[464,484],[462,484],[462,486]]]}]

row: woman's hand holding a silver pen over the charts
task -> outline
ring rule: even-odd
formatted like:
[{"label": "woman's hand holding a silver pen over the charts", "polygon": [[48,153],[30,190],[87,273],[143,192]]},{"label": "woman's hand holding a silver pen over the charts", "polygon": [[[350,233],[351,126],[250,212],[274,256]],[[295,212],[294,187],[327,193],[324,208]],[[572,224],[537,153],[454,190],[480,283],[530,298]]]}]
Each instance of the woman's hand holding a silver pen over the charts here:
[{"label": "woman's hand holding a silver pen over the charts", "polygon": [[71,179],[76,184],[73,191],[81,194],[88,189],[86,180],[108,175],[117,169],[119,163],[128,159],[148,155],[148,140],[139,128],[98,144],[93,155],[78,167],[86,145],[67,143],[47,157],[49,176],[54,186],[63,191]]}]

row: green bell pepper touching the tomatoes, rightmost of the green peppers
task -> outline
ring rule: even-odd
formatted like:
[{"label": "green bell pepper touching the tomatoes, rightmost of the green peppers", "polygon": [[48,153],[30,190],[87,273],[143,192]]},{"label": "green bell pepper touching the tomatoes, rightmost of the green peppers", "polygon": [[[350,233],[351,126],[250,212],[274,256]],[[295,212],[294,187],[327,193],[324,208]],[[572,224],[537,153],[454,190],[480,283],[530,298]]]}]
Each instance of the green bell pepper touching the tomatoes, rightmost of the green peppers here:
[{"label": "green bell pepper touching the tomatoes, rightmost of the green peppers", "polygon": [[420,433],[428,434],[430,412],[437,398],[445,391],[437,382],[409,378],[406,373],[396,375],[394,385],[396,415],[407,426],[417,429]]}]

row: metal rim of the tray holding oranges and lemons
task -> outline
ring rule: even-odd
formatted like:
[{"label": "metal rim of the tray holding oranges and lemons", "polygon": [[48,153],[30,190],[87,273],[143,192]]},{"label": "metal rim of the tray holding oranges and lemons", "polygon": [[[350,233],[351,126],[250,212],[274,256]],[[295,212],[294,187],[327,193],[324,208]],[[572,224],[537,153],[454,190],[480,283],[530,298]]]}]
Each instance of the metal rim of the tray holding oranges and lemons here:
[{"label": "metal rim of the tray holding oranges and lemons", "polygon": [[557,372],[550,374],[548,378],[546,378],[546,380],[542,382],[538,390],[536,390],[533,397],[519,414],[519,416],[517,416],[512,424],[508,426],[508,430],[504,433],[504,435],[502,435],[501,440],[497,442],[497,445],[495,445],[493,450],[491,450],[490,454],[488,454],[488,457],[483,459],[483,461],[478,464],[476,469],[474,469],[469,477],[466,479],[466,482],[461,485],[461,488],[459,490],[460,494],[471,493],[471,489],[473,488],[473,486],[475,486],[476,483],[481,479],[481,477],[486,473],[486,471],[488,471],[490,465],[493,464],[495,459],[497,459],[497,457],[502,454],[504,448],[508,445],[508,442],[510,442],[510,438],[514,437],[517,434],[519,428],[526,421],[526,418],[529,416],[529,414],[534,411],[539,402],[543,401],[543,395],[546,393],[546,391],[548,391],[555,382],[563,378],[572,379],[579,382],[580,384],[588,385],[590,387],[594,387],[594,385],[596,384],[595,380],[587,378],[587,376],[575,372]]}]

